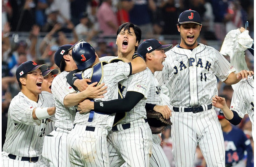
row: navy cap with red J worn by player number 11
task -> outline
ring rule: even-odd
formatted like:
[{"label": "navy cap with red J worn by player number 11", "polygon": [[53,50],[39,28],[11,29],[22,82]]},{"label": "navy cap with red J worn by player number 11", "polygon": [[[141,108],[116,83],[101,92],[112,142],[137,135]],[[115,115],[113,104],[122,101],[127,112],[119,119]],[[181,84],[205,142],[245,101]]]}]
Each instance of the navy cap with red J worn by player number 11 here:
[{"label": "navy cap with red J worn by player number 11", "polygon": [[196,23],[199,25],[201,24],[201,17],[199,13],[195,10],[185,10],[182,13],[180,13],[180,16],[178,18],[178,24],[185,24],[185,23]]}]

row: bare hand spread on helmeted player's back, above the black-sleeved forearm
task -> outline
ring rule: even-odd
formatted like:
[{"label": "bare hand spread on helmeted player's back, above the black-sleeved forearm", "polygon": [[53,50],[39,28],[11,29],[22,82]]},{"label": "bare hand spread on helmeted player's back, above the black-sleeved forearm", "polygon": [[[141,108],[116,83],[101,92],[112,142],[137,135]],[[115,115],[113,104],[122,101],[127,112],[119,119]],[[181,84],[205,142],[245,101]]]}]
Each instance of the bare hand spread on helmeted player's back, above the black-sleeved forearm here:
[{"label": "bare hand spread on helmeted player's back, above the black-sleeved forearm", "polygon": [[105,86],[105,83],[101,83],[98,86],[98,82],[91,83],[86,90],[83,92],[86,95],[86,98],[95,99],[95,98],[103,98],[103,94],[107,92],[107,86]]}]

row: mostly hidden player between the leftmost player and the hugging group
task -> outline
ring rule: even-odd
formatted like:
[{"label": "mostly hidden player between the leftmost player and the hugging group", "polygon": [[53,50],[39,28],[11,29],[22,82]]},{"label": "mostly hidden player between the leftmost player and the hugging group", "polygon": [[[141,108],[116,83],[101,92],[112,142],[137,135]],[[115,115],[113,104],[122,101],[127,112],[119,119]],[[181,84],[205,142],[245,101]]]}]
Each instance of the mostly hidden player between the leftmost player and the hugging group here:
[{"label": "mostly hidden player between the leftmost player and the hugging group", "polygon": [[[58,74],[59,70],[57,68],[53,68],[53,69],[47,69],[45,71],[42,71],[42,75],[44,77],[44,81],[42,83],[42,91],[47,91],[50,94],[52,94],[52,80],[54,78],[54,75]],[[52,95],[52,99],[53,99],[53,95]],[[54,124],[55,124],[55,116],[51,116],[48,119],[48,124],[45,127],[45,134],[49,134],[50,132],[53,131],[54,129]]]}]

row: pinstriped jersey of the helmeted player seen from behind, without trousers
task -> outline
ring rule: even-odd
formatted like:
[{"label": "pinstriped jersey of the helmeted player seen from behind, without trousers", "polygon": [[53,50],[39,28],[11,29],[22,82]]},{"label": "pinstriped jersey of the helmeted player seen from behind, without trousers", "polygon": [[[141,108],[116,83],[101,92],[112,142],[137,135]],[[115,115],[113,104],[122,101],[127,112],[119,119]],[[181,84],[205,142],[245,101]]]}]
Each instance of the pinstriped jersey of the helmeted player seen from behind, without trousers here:
[{"label": "pinstriped jersey of the helmeted player seen from behind, without trousers", "polygon": [[[90,78],[92,68],[83,71],[84,78]],[[118,99],[118,82],[128,78],[130,74],[130,65],[119,61],[118,63],[109,63],[103,66],[103,79],[102,83],[107,86],[107,93],[101,99],[94,99],[94,101],[109,101]],[[111,130],[115,114],[97,114],[94,113],[93,121],[88,122],[89,114],[76,114],[74,124],[86,124],[87,126],[100,127],[104,129]]]}]

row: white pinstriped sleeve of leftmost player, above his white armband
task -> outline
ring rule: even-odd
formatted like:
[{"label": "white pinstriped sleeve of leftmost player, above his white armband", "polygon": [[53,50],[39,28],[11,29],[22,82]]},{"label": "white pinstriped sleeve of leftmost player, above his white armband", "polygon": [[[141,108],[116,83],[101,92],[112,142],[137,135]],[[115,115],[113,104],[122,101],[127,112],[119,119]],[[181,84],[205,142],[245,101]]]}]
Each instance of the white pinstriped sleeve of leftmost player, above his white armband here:
[{"label": "white pinstriped sleeve of leftmost player, above his white armband", "polygon": [[26,125],[39,125],[41,120],[33,119],[32,113],[35,107],[25,98],[15,98],[9,106],[9,114],[14,123]]}]

